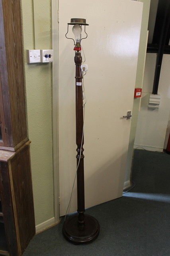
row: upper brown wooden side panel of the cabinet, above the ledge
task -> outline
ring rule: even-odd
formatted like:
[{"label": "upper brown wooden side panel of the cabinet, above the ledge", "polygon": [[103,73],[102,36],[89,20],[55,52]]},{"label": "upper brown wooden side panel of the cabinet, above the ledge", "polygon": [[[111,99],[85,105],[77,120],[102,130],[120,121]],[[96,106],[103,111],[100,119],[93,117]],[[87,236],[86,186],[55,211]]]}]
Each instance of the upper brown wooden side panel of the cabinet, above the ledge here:
[{"label": "upper brown wooden side panel of the cabinet, above the ledge", "polygon": [[8,147],[15,148],[27,138],[20,0],[0,0],[0,9],[0,69],[4,116]]}]

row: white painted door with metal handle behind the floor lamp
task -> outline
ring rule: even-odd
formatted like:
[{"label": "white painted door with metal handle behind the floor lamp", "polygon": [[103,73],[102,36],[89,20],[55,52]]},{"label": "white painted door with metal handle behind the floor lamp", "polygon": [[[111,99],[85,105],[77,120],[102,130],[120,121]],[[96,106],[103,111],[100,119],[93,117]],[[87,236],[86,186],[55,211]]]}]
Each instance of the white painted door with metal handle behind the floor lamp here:
[{"label": "white painted door with metal handle behind the floor lamp", "polygon": [[[142,8],[143,3],[133,0],[59,0],[61,216],[66,213],[76,174],[74,45],[65,38],[67,23],[71,18],[86,18],[89,24],[88,38],[81,43],[88,64],[84,76],[87,208],[122,196],[131,127],[131,119],[122,116],[133,108]],[[75,182],[69,212],[76,209]]]}]

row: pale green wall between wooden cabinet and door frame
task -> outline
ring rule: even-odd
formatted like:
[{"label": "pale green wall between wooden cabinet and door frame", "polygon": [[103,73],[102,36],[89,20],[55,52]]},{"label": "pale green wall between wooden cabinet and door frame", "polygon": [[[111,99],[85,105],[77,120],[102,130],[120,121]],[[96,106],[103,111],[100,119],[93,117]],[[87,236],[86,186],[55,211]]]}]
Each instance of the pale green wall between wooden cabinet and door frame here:
[{"label": "pale green wall between wooden cabinet and door frame", "polygon": [[27,64],[26,49],[51,49],[51,1],[21,0],[21,4],[27,122],[31,140],[35,223],[38,225],[54,217],[51,63]]}]

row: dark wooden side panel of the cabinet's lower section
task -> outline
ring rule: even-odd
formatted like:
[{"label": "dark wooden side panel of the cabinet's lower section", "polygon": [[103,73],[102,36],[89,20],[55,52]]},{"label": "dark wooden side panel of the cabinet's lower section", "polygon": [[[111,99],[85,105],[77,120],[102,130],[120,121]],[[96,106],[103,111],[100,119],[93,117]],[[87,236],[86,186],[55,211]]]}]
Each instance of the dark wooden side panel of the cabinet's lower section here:
[{"label": "dark wooden side panel of the cabinet's lower section", "polygon": [[35,234],[33,192],[31,183],[29,145],[22,147],[10,160],[12,197],[15,204],[16,231],[21,253]]}]

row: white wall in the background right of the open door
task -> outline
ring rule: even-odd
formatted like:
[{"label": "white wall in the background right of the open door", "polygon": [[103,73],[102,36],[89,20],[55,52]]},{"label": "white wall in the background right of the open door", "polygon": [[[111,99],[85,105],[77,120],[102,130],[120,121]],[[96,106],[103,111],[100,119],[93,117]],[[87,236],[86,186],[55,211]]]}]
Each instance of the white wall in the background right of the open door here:
[{"label": "white wall in the background right of the open door", "polygon": [[149,95],[152,93],[155,63],[156,54],[148,53],[134,147],[142,147],[151,151],[163,151],[167,125],[170,122],[170,55],[164,54],[162,60],[158,87],[160,106],[158,109],[150,109],[148,103]]}]

